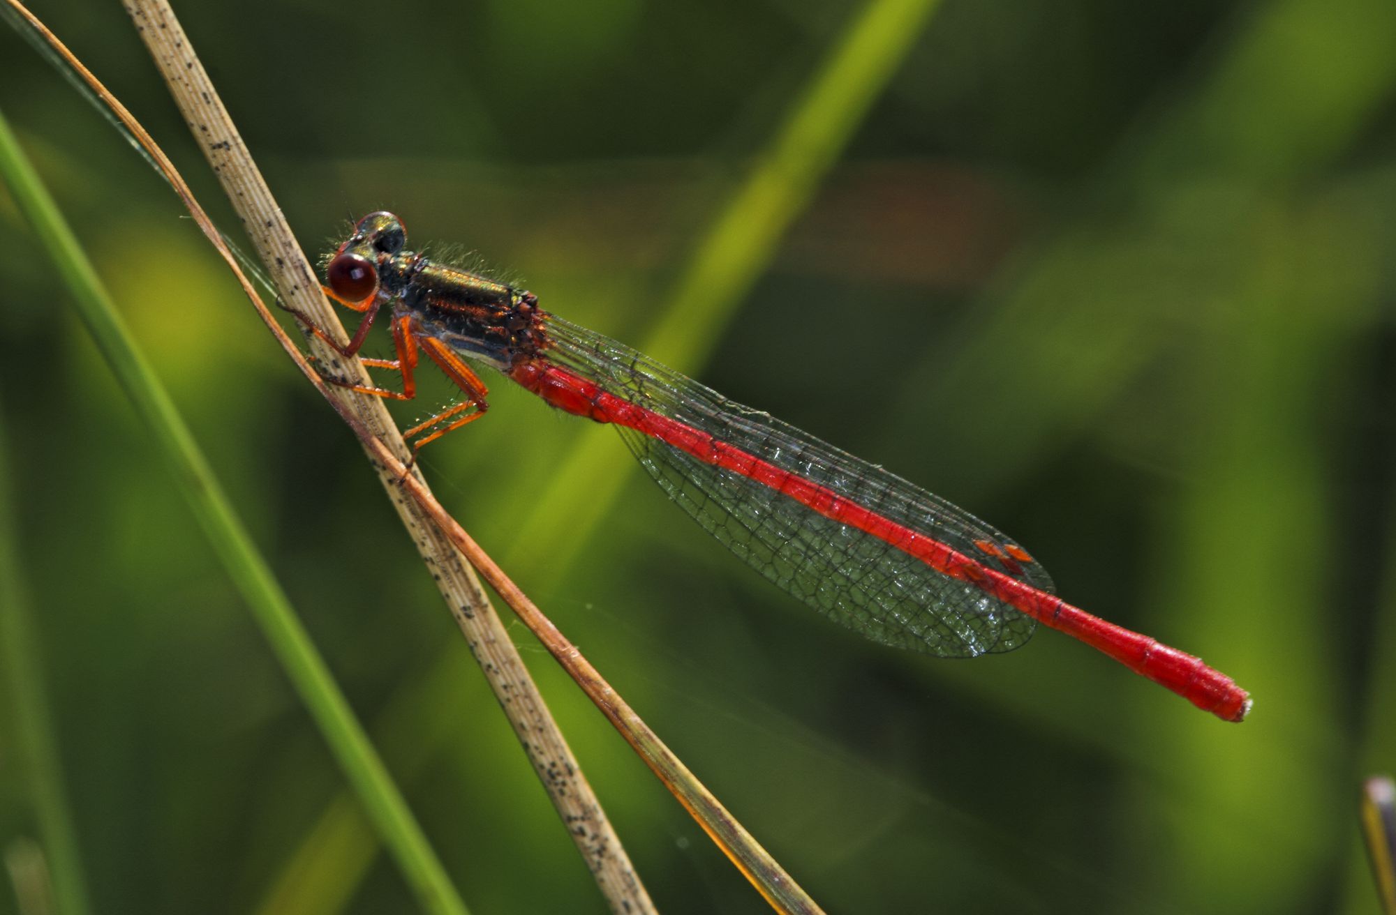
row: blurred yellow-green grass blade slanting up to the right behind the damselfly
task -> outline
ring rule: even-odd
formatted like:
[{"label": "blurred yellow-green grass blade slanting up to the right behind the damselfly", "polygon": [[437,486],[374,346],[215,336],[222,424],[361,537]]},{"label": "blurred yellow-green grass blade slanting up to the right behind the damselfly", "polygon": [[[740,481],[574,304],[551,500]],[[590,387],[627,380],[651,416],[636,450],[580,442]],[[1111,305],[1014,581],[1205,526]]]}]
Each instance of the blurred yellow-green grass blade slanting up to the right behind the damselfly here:
[{"label": "blurred yellow-green grass blade slanting up to the right behind the damselfly", "polygon": [[[642,351],[687,370],[704,361],[937,7],[938,0],[872,0],[854,18],[805,91],[792,103],[747,180],[718,211],[694,247],[688,265],[659,308],[663,319],[641,343]],[[525,517],[514,538],[517,544],[528,544],[530,552],[554,557],[543,575],[563,575],[577,547],[586,541],[586,531],[610,511],[632,471],[621,451],[614,441],[586,438],[558,459],[558,466],[568,473],[556,474],[533,499],[537,509]],[[567,517],[568,523],[558,524],[558,517]],[[504,565],[515,559],[517,555],[510,555]],[[537,580],[546,587],[546,579]],[[447,661],[440,660],[427,679],[447,676],[443,664]],[[385,716],[392,720],[388,727],[399,727],[396,721],[426,714],[429,709],[395,697]],[[417,743],[415,752],[424,756],[430,748]],[[334,808],[322,816],[335,817]],[[350,819],[335,819],[342,829],[357,827]],[[313,830],[306,842],[357,848],[329,829],[328,820]],[[297,858],[300,855],[325,865],[313,873],[327,875],[331,863],[338,863],[331,855],[315,855],[309,848]],[[311,879],[309,873],[304,879]],[[346,875],[341,872],[339,877],[346,879]],[[299,880],[302,877],[288,873],[278,882],[276,894],[290,893],[289,887]],[[269,905],[268,901],[264,911],[272,911]]]}]

